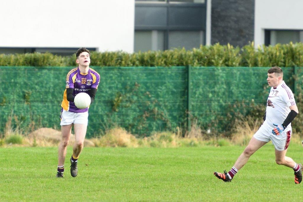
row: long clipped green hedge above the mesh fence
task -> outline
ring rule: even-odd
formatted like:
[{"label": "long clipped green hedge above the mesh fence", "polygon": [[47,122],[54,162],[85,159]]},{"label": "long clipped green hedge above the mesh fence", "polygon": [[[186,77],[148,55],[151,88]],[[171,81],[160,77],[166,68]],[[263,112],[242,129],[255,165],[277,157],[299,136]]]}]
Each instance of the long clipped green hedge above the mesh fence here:
[{"label": "long clipped green hedge above the mesh fence", "polygon": [[[251,43],[242,48],[215,44],[192,50],[173,49],[138,53],[92,52],[91,66],[107,67],[171,67],[171,66],[214,66],[214,67],[302,67],[303,44],[289,43],[275,46],[254,47]],[[58,56],[51,53],[26,53],[0,55],[0,66],[75,66],[75,55]]]}]

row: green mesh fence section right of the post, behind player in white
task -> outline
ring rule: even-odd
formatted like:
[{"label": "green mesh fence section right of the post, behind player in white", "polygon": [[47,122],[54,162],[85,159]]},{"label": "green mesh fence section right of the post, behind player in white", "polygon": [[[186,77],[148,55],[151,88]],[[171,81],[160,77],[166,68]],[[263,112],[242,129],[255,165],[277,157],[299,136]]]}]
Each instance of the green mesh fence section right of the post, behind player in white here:
[{"label": "green mesh fence section right of the post, behind player in white", "polygon": [[[266,82],[268,69],[192,67],[189,96],[191,119],[198,120],[198,125],[204,129],[224,132],[236,113],[248,111],[247,108],[252,103],[264,103],[265,112],[270,89]],[[290,78],[293,71],[293,68],[283,68],[284,80]],[[233,104],[236,102],[241,103],[241,107],[235,108]]]}]

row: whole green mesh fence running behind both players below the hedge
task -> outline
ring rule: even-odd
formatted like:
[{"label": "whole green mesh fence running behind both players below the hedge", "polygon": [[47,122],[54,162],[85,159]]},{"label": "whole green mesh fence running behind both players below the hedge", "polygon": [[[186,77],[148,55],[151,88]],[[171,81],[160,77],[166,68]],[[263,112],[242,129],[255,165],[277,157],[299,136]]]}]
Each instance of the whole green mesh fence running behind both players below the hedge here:
[{"label": "whole green mesh fence running behind both players below the hedge", "polygon": [[[114,126],[148,136],[153,131],[186,129],[193,120],[204,129],[221,126],[224,131],[228,120],[220,117],[226,115],[231,104],[238,101],[265,105],[269,89],[268,68],[92,68],[101,80],[89,109],[87,137],[103,134]],[[0,131],[5,130],[10,118],[13,127],[59,129],[60,105],[70,69],[0,67]],[[287,80],[295,70],[283,71]],[[288,85],[293,89],[292,84]]]}]

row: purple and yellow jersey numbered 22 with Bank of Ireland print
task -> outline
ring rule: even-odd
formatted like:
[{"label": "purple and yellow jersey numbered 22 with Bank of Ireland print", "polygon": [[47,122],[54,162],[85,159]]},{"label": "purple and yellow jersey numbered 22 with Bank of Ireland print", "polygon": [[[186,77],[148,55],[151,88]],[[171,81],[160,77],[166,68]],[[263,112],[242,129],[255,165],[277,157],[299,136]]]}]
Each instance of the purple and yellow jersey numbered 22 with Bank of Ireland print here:
[{"label": "purple and yellow jersey numbered 22 with Bank of Ireland print", "polygon": [[[100,75],[98,72],[93,70],[92,68],[88,69],[86,74],[80,72],[79,68],[74,68],[68,72],[66,76],[66,88],[74,88],[73,95],[75,96],[78,93],[87,93],[90,94],[91,88],[98,89],[98,85],[100,82]],[[88,108],[78,109],[75,106],[74,102],[70,102],[67,100],[66,89],[63,94],[63,101],[61,107],[70,112],[82,113],[88,111]]]}]

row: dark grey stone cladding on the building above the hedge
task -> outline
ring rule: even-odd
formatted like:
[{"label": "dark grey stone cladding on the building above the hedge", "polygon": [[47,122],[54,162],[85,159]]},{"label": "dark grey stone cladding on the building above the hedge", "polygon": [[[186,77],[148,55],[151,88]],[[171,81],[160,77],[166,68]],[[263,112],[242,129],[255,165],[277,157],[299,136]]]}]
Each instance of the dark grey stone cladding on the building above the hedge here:
[{"label": "dark grey stone cladding on the building above the hedge", "polygon": [[244,46],[254,40],[255,0],[211,1],[211,44]]}]

